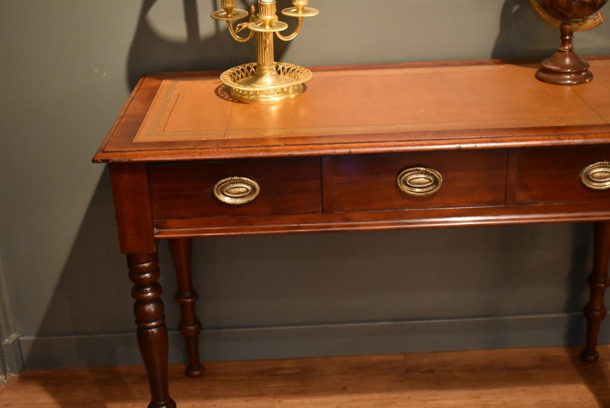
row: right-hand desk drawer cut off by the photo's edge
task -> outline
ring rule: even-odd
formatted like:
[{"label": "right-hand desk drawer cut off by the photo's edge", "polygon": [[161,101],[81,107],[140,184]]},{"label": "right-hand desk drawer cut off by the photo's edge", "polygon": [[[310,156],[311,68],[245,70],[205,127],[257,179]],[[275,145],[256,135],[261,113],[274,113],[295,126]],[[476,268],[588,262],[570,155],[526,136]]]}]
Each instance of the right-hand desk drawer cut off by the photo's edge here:
[{"label": "right-hand desk drawer cut off by the photo's edge", "polygon": [[[581,181],[587,166],[610,161],[609,146],[531,148],[517,155],[517,204],[607,201],[610,208],[610,190],[587,188]],[[593,177],[603,180],[608,172]]]}]

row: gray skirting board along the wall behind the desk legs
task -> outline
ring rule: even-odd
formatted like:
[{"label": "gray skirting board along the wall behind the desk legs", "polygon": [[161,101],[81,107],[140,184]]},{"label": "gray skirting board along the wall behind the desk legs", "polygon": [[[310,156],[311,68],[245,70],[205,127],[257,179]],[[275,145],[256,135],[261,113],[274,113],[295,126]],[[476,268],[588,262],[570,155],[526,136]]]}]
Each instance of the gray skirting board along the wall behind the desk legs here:
[{"label": "gray skirting board along the wall behind the desk legs", "polygon": [[[286,359],[468,349],[575,346],[584,343],[581,313],[430,321],[203,330],[206,361]],[[134,330],[135,332],[135,330]],[[184,340],[169,333],[170,363],[187,361]],[[602,324],[600,344],[610,341]],[[26,370],[141,364],[135,333],[20,338]]]}]

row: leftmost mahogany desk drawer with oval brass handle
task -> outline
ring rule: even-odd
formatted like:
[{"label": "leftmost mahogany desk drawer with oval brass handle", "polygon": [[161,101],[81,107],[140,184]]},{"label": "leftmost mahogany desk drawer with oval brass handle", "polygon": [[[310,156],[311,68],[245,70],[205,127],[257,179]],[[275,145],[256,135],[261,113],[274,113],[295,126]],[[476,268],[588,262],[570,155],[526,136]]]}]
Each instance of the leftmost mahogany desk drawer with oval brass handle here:
[{"label": "leftmost mahogany desk drawer with oval brass handle", "polygon": [[[277,158],[240,161],[156,164],[149,166],[152,213],[155,219],[320,213],[320,158]],[[214,194],[239,202],[254,192],[251,202],[231,204]],[[251,197],[251,196],[250,196]]]}]

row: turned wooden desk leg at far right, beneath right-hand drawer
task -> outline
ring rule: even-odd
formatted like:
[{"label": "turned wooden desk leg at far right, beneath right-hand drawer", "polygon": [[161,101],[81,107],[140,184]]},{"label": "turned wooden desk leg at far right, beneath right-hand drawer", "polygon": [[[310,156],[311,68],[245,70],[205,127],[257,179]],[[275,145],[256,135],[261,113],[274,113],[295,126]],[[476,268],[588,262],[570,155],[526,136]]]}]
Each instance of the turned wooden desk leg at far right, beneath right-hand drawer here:
[{"label": "turned wooden desk leg at far right, beneath right-hand drawer", "polygon": [[608,279],[608,257],[610,256],[610,222],[594,224],[594,256],[593,272],[587,282],[591,286],[589,303],[584,308],[587,318],[587,342],[581,353],[583,360],[595,362],[600,355],[597,352],[597,337],[600,333],[601,321],[606,317],[604,292],[610,286]]}]

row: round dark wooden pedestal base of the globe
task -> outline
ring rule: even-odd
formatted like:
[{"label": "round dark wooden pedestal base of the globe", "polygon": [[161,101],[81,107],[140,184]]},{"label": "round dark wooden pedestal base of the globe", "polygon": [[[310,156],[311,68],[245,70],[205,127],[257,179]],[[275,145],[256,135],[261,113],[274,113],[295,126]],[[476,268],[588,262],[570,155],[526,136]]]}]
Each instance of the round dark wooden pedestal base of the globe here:
[{"label": "round dark wooden pedestal base of the globe", "polygon": [[574,51],[557,51],[540,65],[536,78],[549,84],[578,85],[593,79],[589,63],[580,59]]}]

